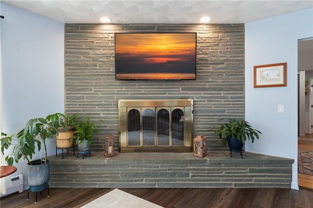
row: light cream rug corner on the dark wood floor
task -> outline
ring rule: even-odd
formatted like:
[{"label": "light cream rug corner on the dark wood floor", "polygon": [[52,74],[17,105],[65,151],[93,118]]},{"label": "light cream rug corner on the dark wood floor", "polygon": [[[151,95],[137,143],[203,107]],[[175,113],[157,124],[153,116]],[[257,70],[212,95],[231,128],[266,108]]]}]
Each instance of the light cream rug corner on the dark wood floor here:
[{"label": "light cream rug corner on the dark wood floor", "polygon": [[115,188],[109,193],[83,206],[82,208],[162,208],[162,207]]}]

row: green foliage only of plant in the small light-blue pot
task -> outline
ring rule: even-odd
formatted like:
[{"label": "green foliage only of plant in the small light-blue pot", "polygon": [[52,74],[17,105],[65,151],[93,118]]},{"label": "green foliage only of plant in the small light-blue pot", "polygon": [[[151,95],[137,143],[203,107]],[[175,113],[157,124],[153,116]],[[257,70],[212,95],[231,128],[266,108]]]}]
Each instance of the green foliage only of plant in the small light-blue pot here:
[{"label": "green foliage only of plant in the small light-blue pot", "polygon": [[88,116],[84,116],[80,122],[78,122],[75,125],[75,132],[74,132],[74,139],[75,143],[78,144],[78,141],[80,141],[80,144],[83,143],[83,141],[88,140],[88,146],[90,146],[92,141],[92,135],[95,132],[98,132],[94,130],[96,127],[96,122],[90,122],[90,119]]}]

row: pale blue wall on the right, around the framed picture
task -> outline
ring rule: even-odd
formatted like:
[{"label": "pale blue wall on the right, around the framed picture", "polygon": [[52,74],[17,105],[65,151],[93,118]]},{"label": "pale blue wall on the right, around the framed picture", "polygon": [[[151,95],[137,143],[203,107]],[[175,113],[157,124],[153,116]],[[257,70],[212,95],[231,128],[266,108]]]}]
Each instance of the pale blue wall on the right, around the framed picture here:
[{"label": "pale blue wall on the right, around the framed picture", "polygon": [[[246,150],[292,158],[297,189],[297,40],[313,36],[313,8],[246,23],[246,120],[262,131]],[[253,88],[253,66],[287,62],[287,86]],[[277,105],[284,113],[277,113]]]}]

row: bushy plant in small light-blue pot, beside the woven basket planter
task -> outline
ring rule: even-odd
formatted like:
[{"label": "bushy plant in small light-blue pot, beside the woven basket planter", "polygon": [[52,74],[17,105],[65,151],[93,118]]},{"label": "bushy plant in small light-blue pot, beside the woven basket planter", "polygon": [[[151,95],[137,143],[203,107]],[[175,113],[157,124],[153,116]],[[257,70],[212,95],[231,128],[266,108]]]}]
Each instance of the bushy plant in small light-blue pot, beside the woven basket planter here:
[{"label": "bushy plant in small light-blue pot, beside the woven basket planter", "polygon": [[96,122],[90,122],[88,116],[84,116],[82,120],[75,125],[74,139],[79,152],[89,151],[92,135],[97,132],[94,130],[95,127]]}]

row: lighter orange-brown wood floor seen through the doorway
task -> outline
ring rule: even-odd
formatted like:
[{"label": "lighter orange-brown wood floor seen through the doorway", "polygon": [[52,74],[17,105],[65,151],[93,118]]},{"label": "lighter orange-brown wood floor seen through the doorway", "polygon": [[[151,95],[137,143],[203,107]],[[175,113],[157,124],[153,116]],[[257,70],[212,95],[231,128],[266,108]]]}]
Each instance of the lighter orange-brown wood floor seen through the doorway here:
[{"label": "lighter orange-brown wood floor seen through the doorway", "polygon": [[[298,140],[298,149],[313,150],[313,134],[306,134],[305,138],[312,141]],[[313,175],[298,173],[298,184],[300,187],[313,189]]]}]

